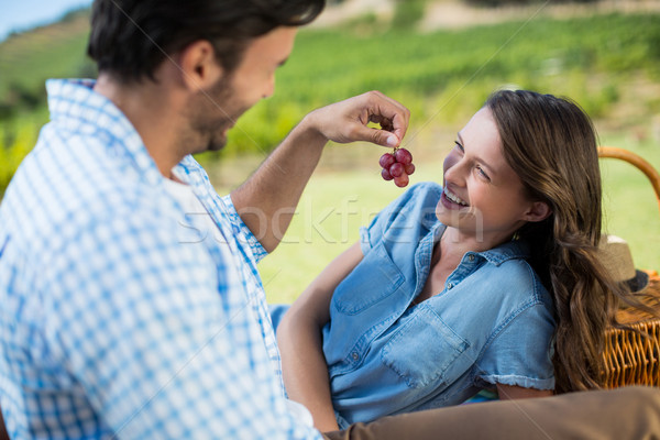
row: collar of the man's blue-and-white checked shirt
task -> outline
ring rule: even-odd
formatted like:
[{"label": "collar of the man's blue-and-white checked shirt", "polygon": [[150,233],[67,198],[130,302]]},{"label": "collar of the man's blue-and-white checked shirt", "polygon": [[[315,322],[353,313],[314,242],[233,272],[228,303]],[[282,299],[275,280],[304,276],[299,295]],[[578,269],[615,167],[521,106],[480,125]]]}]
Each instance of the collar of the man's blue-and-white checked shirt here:
[{"label": "collar of the man's blue-and-white checked shirt", "polygon": [[74,131],[96,131],[108,148],[125,155],[152,185],[164,177],[129,119],[105,96],[94,91],[92,79],[48,79],[51,120]]}]

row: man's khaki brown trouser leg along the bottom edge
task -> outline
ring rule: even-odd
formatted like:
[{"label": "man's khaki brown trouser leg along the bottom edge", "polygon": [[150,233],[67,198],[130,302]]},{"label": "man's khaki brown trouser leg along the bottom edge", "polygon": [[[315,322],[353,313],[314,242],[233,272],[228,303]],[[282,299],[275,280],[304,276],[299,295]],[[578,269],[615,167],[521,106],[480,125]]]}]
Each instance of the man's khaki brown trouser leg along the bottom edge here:
[{"label": "man's khaki brown trouser leg along the bottom edge", "polygon": [[660,439],[660,388],[460,405],[355,424],[327,439]]}]

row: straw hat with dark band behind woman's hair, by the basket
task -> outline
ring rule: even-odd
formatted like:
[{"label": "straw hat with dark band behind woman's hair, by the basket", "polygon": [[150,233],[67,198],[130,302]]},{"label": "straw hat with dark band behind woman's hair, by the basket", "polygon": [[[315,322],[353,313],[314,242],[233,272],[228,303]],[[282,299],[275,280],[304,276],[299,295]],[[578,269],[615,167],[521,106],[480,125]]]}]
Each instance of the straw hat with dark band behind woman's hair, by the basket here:
[{"label": "straw hat with dark band behind woman's hair, by the basket", "polygon": [[649,275],[635,268],[628,243],[620,237],[602,234],[598,243],[598,260],[614,279],[625,283],[630,292],[639,294],[649,285]]}]

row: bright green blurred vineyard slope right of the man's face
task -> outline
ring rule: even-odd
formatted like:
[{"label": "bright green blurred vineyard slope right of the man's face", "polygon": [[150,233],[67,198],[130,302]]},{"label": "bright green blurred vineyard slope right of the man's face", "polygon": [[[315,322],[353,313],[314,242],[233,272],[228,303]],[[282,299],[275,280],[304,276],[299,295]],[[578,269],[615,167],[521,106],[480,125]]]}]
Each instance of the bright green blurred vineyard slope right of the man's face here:
[{"label": "bright green blurred vineyard slope right of the man's face", "polygon": [[[660,15],[540,18],[431,34],[365,26],[301,31],[277,74],[284,92],[241,119],[229,151],[268,151],[310,109],[371,89],[406,102],[420,121],[441,110],[442,121],[458,123],[503,85],[570,96],[606,118],[626,84],[660,79]],[[653,114],[660,101],[647,95],[636,107]]]}]

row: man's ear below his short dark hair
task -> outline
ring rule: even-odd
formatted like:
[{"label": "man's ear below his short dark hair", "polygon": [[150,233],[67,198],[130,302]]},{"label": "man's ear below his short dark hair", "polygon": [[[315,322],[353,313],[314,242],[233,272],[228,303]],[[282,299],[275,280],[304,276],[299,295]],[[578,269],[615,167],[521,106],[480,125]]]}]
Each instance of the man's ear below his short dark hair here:
[{"label": "man's ear below his short dark hair", "polygon": [[216,51],[207,40],[188,44],[178,57],[182,81],[191,91],[208,89],[223,75]]}]

